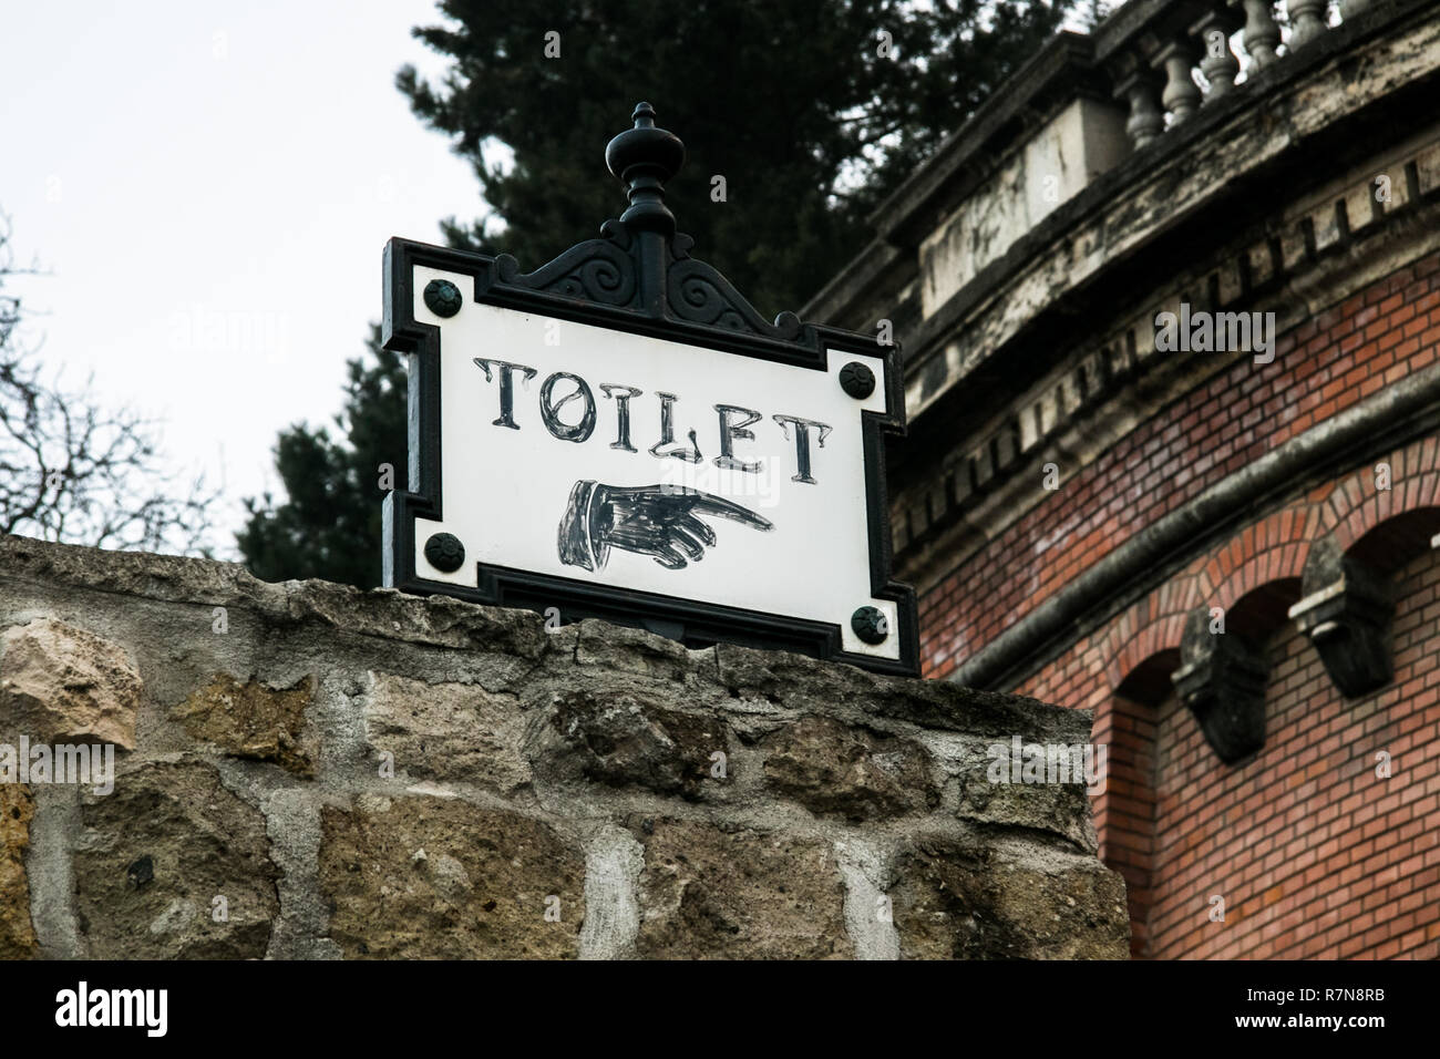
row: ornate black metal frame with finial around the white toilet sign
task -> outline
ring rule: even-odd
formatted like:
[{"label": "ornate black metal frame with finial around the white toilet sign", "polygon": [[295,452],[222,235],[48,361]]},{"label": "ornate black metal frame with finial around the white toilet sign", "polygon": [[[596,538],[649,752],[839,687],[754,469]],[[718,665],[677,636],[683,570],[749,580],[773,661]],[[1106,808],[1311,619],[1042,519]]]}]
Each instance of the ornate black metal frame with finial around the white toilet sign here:
[{"label": "ornate black metal frame with finial around the white toilet sign", "polygon": [[[629,209],[606,220],[600,238],[564,251],[534,272],[521,274],[505,254],[490,256],[390,239],[384,248],[383,341],[409,356],[409,488],[384,499],[384,576],[387,588],[422,595],[444,594],[469,602],[536,611],[559,608],[562,621],[602,618],[648,628],[690,647],[739,643],[848,661],[864,669],[919,673],[914,591],[890,579],[888,504],[883,435],[904,434],[900,350],[877,346],[873,336],[822,324],[802,324],[793,313],[766,323],[714,268],[688,255],[693,241],[675,232],[664,205],[664,182],[680,167],[684,147],[655,128],[648,104],[635,110],[635,128],[611,141],[606,161],[628,184]],[[827,350],[845,350],[884,362],[890,414],[863,411],[865,517],[871,595],[893,601],[900,657],[845,651],[840,625],[743,609],[657,592],[593,585],[572,578],[477,563],[477,588],[420,576],[415,562],[415,520],[439,522],[441,494],[441,329],[415,320],[415,268],[429,267],[471,277],[461,291],[477,303],[528,310],[609,330],[645,334],[691,346],[828,370]]]}]

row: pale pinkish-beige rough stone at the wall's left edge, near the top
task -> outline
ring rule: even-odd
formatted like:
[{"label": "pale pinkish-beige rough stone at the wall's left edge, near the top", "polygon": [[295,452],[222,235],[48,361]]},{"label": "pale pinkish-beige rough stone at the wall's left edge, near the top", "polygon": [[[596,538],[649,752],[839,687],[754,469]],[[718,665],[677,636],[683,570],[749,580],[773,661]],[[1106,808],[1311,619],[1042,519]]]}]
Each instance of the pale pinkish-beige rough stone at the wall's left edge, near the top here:
[{"label": "pale pinkish-beige rough stone at the wall's left edge, near the top", "polygon": [[141,690],[125,650],[94,633],[36,618],[0,637],[0,732],[134,749]]}]

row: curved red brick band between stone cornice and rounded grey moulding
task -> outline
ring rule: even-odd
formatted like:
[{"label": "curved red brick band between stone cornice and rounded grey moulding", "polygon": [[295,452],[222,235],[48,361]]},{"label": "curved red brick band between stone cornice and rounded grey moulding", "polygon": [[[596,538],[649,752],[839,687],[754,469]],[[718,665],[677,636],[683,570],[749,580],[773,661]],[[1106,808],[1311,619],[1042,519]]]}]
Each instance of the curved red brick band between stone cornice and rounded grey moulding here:
[{"label": "curved red brick band between stone cornice and rounded grey moulding", "polygon": [[948,676],[1139,527],[1387,382],[1434,363],[1437,349],[1440,254],[1280,336],[1272,365],[1230,354],[1227,370],[1066,478],[924,595],[926,676]]}]

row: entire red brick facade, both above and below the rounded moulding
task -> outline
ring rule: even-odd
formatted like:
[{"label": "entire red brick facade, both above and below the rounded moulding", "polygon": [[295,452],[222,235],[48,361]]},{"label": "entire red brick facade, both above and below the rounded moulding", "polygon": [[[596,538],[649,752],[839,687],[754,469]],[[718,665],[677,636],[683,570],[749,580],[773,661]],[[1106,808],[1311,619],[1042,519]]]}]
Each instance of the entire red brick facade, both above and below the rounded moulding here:
[{"label": "entire red brick facade, both above and below the rounded moulding", "polygon": [[[1126,537],[1248,461],[1426,367],[1440,349],[1440,255],[1237,359],[1086,467],[920,601],[943,677]],[[1201,354],[1202,356],[1202,354]],[[1276,370],[1279,369],[1279,370]],[[1394,487],[1375,487],[1374,464]],[[1038,488],[1038,481],[1037,481]],[[1346,702],[1284,618],[1310,543],[1394,562],[1395,679]],[[1125,875],[1140,957],[1440,957],[1440,437],[1418,438],[1257,511],[1018,690],[1096,710],[1110,746],[1102,857]],[[1369,536],[1367,536],[1369,535]],[[1421,540],[1423,537],[1423,540]],[[1266,743],[1224,765],[1171,692],[1185,615],[1254,611],[1272,661]],[[1251,637],[1254,638],[1254,637]],[[1375,754],[1392,777],[1375,777]],[[1210,919],[1210,898],[1225,921]]]}]

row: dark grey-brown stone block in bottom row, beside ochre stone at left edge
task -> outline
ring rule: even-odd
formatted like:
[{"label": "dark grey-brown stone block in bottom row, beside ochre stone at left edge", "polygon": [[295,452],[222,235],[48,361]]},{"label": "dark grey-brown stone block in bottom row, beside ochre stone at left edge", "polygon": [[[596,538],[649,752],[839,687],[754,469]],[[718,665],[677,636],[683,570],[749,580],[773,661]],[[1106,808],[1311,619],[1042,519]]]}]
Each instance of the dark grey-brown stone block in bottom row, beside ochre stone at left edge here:
[{"label": "dark grey-brown stone block in bottom row, beside ochre stone at left edge", "polygon": [[265,955],[279,912],[265,818],[209,765],[125,772],[112,794],[85,797],[81,818],[75,918],[91,957]]}]

